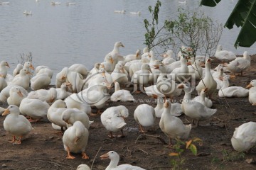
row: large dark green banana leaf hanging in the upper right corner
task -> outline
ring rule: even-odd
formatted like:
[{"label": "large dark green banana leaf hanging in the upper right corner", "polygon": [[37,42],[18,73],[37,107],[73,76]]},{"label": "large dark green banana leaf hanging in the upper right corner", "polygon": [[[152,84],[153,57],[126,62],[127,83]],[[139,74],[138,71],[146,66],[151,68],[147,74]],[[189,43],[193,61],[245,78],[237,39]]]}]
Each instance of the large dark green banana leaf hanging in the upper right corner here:
[{"label": "large dark green banana leaf hanging in the upper right corner", "polygon": [[230,14],[225,27],[232,29],[234,25],[242,27],[235,47],[250,47],[256,41],[256,0],[239,0]]}]

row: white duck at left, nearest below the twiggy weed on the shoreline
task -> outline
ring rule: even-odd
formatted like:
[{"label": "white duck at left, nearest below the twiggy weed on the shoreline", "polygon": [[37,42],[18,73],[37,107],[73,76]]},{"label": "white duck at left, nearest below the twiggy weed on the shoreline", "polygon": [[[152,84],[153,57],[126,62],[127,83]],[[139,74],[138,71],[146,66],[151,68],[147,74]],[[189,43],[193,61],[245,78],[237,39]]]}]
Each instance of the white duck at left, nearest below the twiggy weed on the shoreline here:
[{"label": "white duck at left, nearest below the twiggy weed on the shoreline", "polygon": [[21,69],[20,73],[11,81],[11,84],[22,86],[24,89],[28,90],[30,82],[30,77],[28,77],[28,74],[31,74],[28,69]]}]

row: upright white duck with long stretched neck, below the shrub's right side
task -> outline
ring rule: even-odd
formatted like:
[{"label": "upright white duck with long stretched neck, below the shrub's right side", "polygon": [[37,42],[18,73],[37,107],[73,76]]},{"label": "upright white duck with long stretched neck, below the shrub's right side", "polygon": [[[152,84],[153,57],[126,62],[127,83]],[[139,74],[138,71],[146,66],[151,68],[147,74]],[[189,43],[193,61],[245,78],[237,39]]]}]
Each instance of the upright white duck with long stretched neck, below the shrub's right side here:
[{"label": "upright white duck with long stretched neck, below the shrub's right side", "polygon": [[217,83],[213,79],[213,75],[210,73],[210,59],[206,60],[206,76],[199,81],[196,86],[196,91],[198,91],[198,95],[200,95],[202,89],[208,89],[208,95],[211,98],[213,92],[217,89]]}]

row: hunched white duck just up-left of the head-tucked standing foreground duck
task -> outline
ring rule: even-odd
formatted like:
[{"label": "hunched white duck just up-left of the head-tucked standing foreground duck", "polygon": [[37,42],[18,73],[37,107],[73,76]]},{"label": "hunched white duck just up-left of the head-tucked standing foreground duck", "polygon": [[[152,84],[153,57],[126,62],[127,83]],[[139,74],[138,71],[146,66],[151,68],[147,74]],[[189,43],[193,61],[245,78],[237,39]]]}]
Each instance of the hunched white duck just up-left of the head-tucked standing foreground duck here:
[{"label": "hunched white duck just up-left of the head-tucked standing foreground duck", "polygon": [[57,100],[55,101],[47,112],[47,118],[51,123],[54,123],[55,125],[58,125],[61,127],[61,130],[63,128],[67,128],[67,124],[62,119],[62,113],[67,110],[67,105],[65,101]]}]

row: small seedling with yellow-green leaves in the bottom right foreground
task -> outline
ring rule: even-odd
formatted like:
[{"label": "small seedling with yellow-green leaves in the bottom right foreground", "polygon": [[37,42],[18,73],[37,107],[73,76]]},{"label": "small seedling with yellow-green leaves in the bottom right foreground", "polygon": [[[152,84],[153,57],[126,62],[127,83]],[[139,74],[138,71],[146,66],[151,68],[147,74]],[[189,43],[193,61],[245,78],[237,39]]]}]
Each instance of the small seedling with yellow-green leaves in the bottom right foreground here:
[{"label": "small seedling with yellow-green leaves in the bottom right foreground", "polygon": [[195,137],[192,140],[188,140],[186,142],[176,139],[176,145],[173,146],[175,152],[171,152],[169,154],[171,157],[176,157],[175,159],[171,159],[173,170],[183,169],[182,165],[185,164],[186,161],[186,159],[183,157],[183,154],[186,152],[186,150],[190,150],[194,155],[197,154],[197,147],[194,143],[198,143],[199,145],[203,144],[202,140],[198,137]]}]

